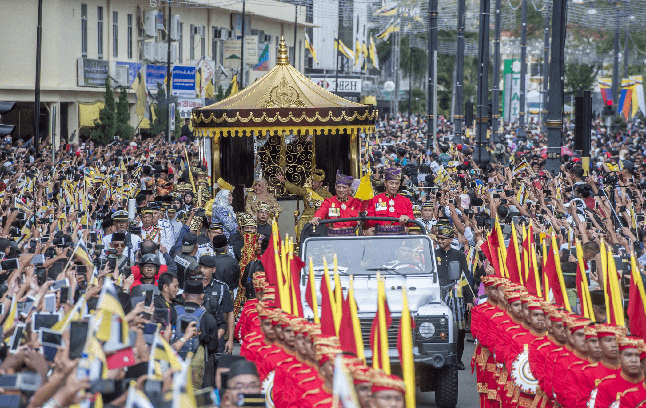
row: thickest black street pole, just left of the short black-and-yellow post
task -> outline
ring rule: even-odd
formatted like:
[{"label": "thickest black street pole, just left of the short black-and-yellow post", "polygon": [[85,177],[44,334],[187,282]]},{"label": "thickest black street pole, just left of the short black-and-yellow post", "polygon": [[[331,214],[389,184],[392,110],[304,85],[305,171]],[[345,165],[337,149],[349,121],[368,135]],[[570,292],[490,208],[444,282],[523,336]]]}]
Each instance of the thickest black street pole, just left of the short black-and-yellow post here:
[{"label": "thickest black street pole, just left of the short black-and-yellow post", "polygon": [[[563,58],[565,57],[566,0],[552,3],[552,51],[550,56],[550,94],[547,127],[547,160],[545,169],[556,177],[561,172],[561,145],[563,132]],[[615,65],[616,66],[616,65]],[[589,137],[589,135],[588,135]]]}]

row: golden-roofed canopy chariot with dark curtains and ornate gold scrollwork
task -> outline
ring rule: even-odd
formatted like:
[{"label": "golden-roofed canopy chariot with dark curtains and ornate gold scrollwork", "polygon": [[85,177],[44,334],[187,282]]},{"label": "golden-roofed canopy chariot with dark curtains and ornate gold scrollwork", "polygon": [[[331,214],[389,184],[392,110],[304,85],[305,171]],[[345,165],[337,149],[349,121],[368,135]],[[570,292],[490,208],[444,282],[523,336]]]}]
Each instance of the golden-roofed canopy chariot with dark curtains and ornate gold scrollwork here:
[{"label": "golden-roofed canopy chariot with dark curtains and ornate gold scrollwork", "polygon": [[[359,134],[375,131],[377,115],[376,106],[328,92],[289,65],[281,38],[273,69],[237,94],[193,109],[191,119],[195,136],[211,138],[213,180],[249,188],[265,178],[289,211],[297,209],[298,197],[276,173],[303,186],[312,169],[323,169],[334,194],[337,169],[360,178]],[[242,211],[243,192],[234,189],[236,211]]]}]

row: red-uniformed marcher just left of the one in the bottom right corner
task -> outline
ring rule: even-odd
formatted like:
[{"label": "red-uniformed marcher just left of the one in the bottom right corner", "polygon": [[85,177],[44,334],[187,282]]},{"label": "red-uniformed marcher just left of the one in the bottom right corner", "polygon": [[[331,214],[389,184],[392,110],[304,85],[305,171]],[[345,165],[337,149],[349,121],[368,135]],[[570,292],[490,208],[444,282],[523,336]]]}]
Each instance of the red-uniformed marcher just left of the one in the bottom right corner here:
[{"label": "red-uniformed marcher just left of the one in the bottom right corner", "polygon": [[592,389],[611,374],[620,374],[619,347],[616,336],[625,336],[627,330],[623,326],[610,325],[609,323],[597,323],[594,325],[601,347],[601,361],[581,367],[578,389],[574,400],[574,407],[585,408]]}]

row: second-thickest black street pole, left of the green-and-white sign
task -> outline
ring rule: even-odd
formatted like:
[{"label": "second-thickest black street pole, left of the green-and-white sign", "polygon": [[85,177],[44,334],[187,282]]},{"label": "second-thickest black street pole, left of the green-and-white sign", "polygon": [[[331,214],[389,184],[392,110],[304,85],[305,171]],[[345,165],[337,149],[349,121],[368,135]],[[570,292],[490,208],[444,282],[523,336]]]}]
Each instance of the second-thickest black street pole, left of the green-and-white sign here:
[{"label": "second-thickest black street pole, left of the green-and-white sign", "polygon": [[[563,0],[556,0],[563,1]],[[477,108],[475,118],[475,164],[487,164],[491,161],[487,151],[487,107],[489,102],[489,9],[490,0],[480,0],[480,23],[478,27],[478,73],[477,73]]]}]

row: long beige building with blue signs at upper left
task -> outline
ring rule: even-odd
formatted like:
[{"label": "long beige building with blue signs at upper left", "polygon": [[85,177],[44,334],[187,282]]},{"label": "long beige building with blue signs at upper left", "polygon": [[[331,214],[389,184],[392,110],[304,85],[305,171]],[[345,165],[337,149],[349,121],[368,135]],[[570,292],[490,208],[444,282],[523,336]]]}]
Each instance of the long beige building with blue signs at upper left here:
[{"label": "long beige building with blue signs at upper left", "polygon": [[[169,3],[174,65],[190,68],[206,60],[207,64],[199,65],[212,74],[215,91],[218,85],[227,89],[240,70],[242,3],[43,0],[41,137],[53,134],[56,140],[76,141],[79,134],[87,136],[102,106],[108,76],[112,85],[129,92],[130,124],[145,125],[146,121],[142,123],[134,114],[136,95],[129,87],[140,71],[152,94],[156,84],[165,78]],[[222,6],[215,7],[218,3]],[[17,102],[16,109],[2,116],[0,123],[16,125],[14,136],[22,138],[34,132],[37,4],[0,0],[0,100]],[[187,4],[191,6],[178,6]],[[275,65],[280,36],[290,46],[290,61],[296,58],[295,67],[304,71],[304,28],[317,27],[306,22],[312,21],[308,13],[311,8],[281,1],[245,1],[245,84]],[[190,76],[191,70],[178,72],[188,72]],[[187,88],[191,83],[182,75],[177,78],[178,87]],[[199,90],[178,93],[180,106],[202,103]],[[118,94],[115,90],[115,98]]]}]

